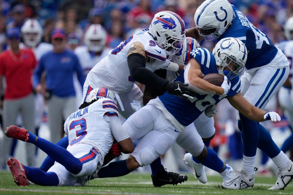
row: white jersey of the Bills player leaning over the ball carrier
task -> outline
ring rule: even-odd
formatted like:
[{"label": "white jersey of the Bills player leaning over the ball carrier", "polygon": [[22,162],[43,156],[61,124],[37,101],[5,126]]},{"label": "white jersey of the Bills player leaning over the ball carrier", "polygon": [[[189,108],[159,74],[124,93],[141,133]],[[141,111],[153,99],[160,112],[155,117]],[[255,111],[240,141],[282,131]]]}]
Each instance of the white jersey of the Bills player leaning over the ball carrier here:
[{"label": "white jersey of the Bills player leaning over the ball carrier", "polygon": [[100,80],[104,84],[103,87],[107,87],[113,92],[130,91],[135,80],[130,76],[127,57],[130,46],[135,42],[143,44],[145,53],[149,57],[146,63],[147,69],[154,72],[169,66],[170,61],[167,59],[165,50],[155,43],[153,36],[148,33],[148,29],[144,29],[122,41],[89,72],[87,76],[89,85],[95,87],[97,80]]}]

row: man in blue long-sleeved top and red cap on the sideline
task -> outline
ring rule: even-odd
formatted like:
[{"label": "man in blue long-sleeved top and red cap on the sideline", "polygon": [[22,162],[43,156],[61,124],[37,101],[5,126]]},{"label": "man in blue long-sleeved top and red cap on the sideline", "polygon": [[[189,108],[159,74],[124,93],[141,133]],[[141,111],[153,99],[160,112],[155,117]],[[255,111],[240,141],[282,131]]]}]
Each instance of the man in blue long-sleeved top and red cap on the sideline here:
[{"label": "man in blue long-sleeved top and red cap on the sideline", "polygon": [[[54,29],[51,35],[53,51],[44,54],[34,72],[34,87],[46,98],[51,141],[56,143],[63,135],[63,121],[76,111],[73,75],[83,87],[85,77],[77,56],[66,48],[66,36],[62,29]],[[41,83],[46,73],[46,88]]]}]

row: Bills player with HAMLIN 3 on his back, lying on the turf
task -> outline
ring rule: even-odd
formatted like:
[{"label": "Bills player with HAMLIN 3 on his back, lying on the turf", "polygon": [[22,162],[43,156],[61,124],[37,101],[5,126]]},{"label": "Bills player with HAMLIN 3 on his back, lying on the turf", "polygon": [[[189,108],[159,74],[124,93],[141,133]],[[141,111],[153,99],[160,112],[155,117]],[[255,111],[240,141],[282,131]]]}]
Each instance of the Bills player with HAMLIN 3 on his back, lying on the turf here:
[{"label": "Bills player with HAMLIN 3 on his back, lying on the turf", "polygon": [[99,171],[114,139],[125,153],[134,150],[129,134],[118,119],[116,98],[104,87],[91,91],[81,109],[66,119],[64,131],[69,140],[67,149],[17,126],[6,129],[7,137],[32,143],[56,161],[44,172],[9,158],[7,164],[17,185],[27,186],[29,179],[42,186],[73,186]]}]

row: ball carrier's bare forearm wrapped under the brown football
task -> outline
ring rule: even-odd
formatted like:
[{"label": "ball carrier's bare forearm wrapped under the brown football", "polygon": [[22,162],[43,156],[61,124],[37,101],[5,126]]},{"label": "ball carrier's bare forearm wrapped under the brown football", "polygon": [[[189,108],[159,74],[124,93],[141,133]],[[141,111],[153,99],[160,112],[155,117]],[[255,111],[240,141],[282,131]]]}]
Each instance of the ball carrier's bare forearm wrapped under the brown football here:
[{"label": "ball carrier's bare forearm wrapped under the brown football", "polygon": [[206,91],[212,91],[215,92],[216,94],[222,95],[224,93],[224,89],[222,87],[218,87],[216,85],[213,85],[209,83],[206,80],[203,80],[202,78],[199,77],[193,77],[188,75],[188,80],[190,84],[192,84],[194,87],[198,87],[202,90]]}]

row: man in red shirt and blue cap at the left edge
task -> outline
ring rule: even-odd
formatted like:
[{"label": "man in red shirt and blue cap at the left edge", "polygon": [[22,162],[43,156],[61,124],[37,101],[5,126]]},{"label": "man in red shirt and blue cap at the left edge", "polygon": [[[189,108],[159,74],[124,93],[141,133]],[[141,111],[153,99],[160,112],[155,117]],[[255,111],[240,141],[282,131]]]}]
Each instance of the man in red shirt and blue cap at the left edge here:
[{"label": "man in red shirt and blue cap at the left edge", "polygon": [[[5,77],[5,91],[3,101],[3,128],[16,123],[16,117],[20,113],[24,128],[35,132],[34,112],[35,103],[33,85],[31,83],[32,72],[37,65],[34,53],[30,49],[20,49],[20,30],[11,28],[6,33],[9,49],[0,55],[0,82]],[[1,83],[0,83],[1,86]],[[1,89],[1,88],[0,88]],[[9,158],[11,139],[3,137],[0,143],[0,165],[4,165]],[[34,146],[26,145],[26,156],[29,165],[34,164]]]}]

